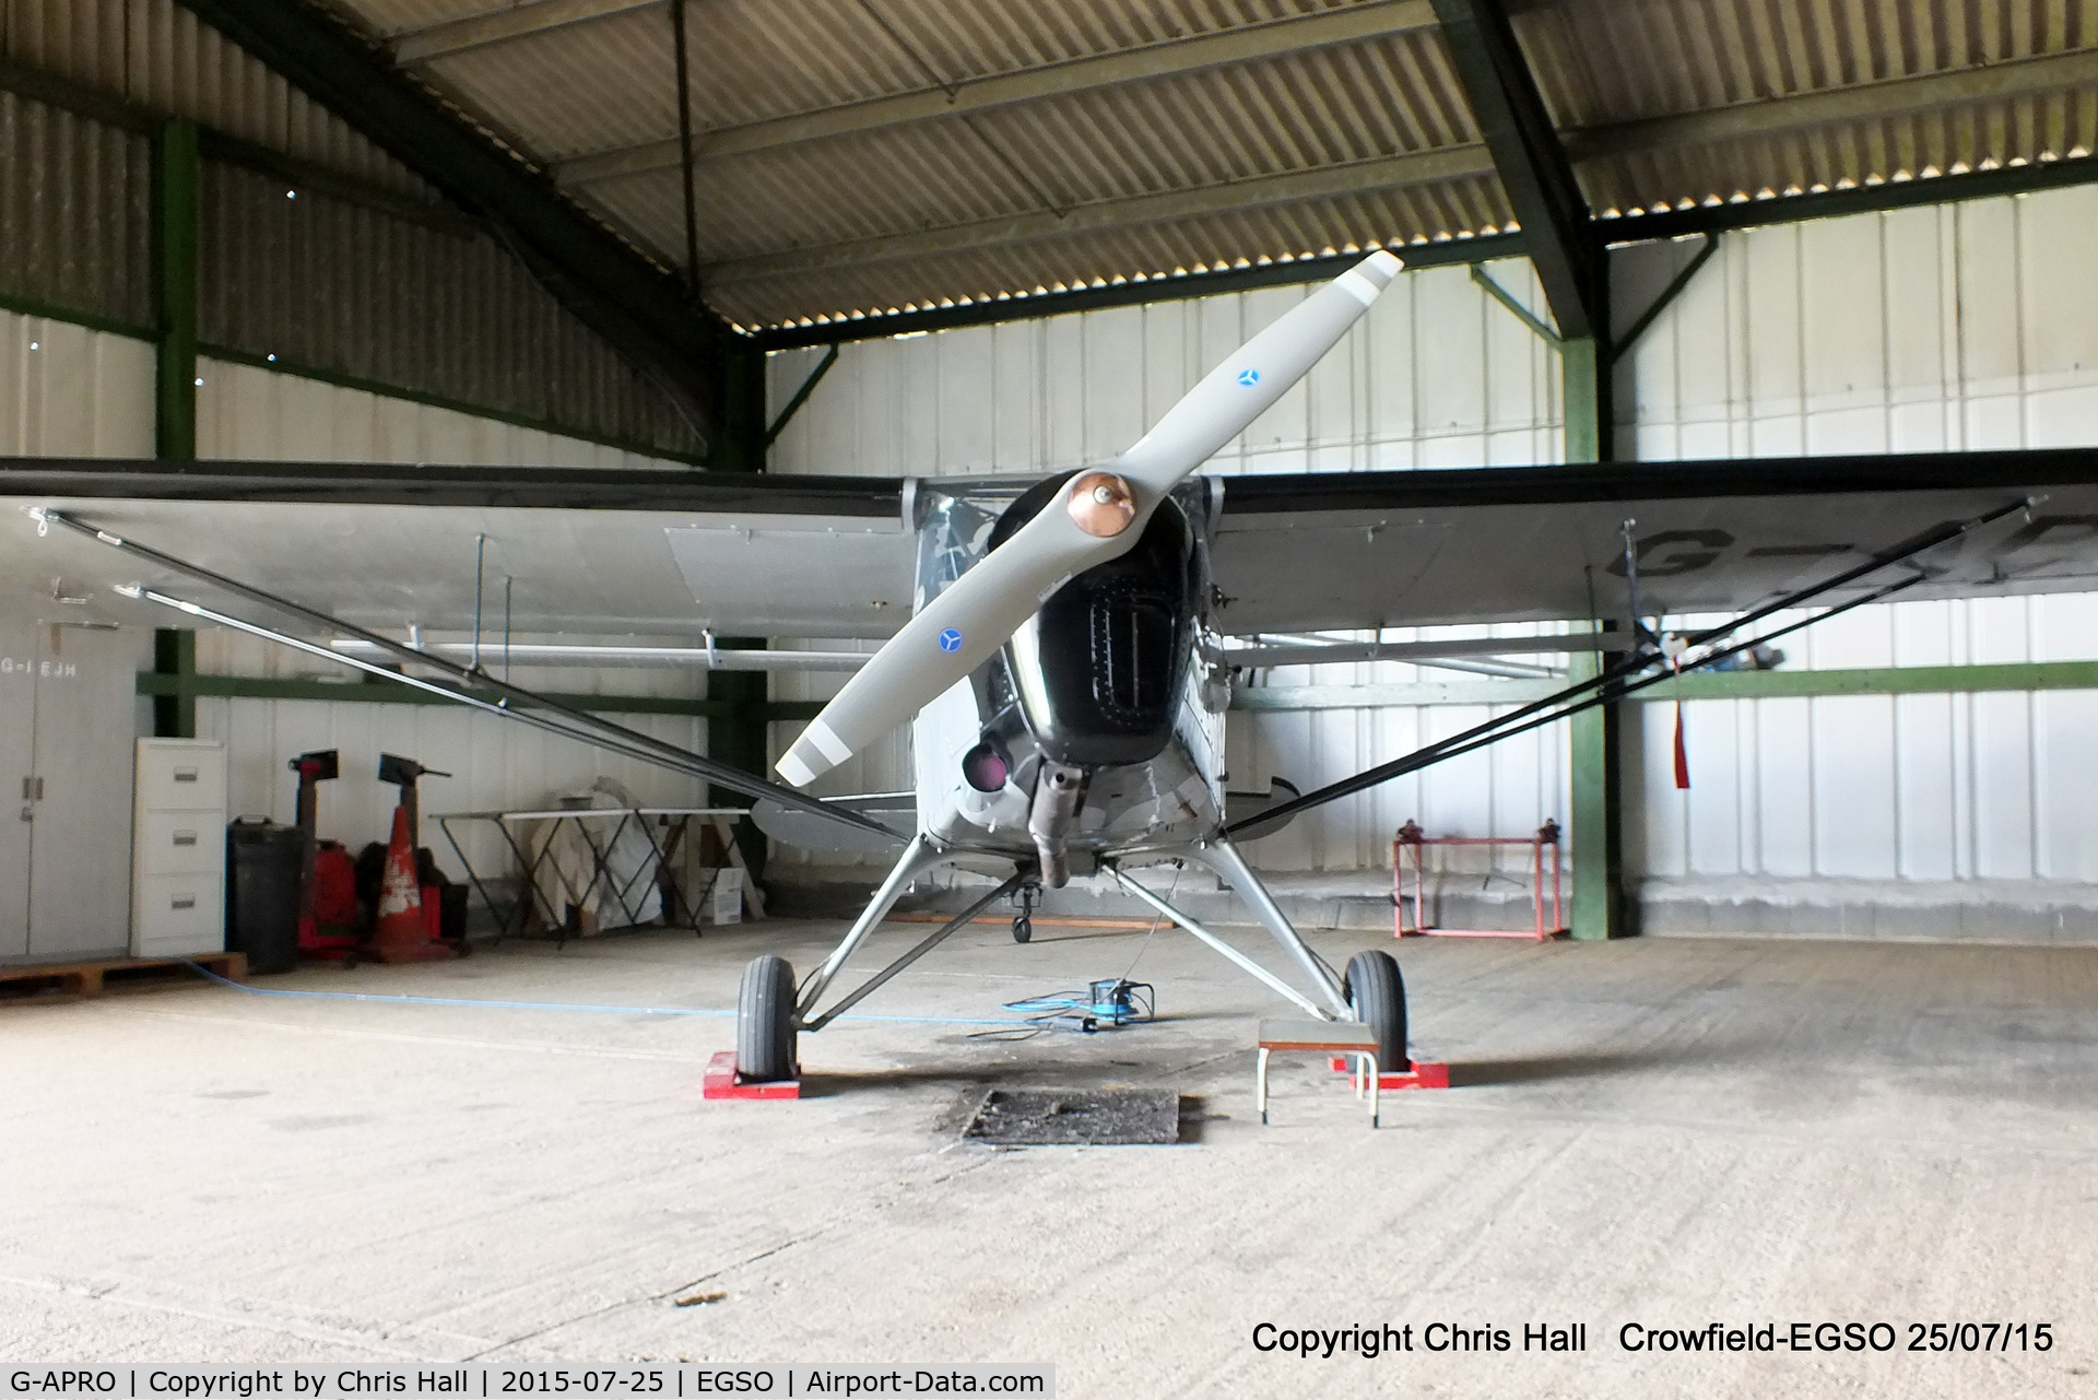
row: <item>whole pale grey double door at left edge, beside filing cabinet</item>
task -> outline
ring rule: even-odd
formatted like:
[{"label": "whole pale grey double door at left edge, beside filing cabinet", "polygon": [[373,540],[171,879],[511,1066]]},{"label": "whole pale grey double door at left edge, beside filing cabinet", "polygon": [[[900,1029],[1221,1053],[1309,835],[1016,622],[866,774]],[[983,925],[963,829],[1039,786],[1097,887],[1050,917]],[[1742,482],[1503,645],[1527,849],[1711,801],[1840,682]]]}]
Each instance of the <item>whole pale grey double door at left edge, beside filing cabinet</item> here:
[{"label": "whole pale grey double door at left edge, beside filing cabinet", "polygon": [[136,651],[111,628],[0,621],[0,959],[130,942]]}]

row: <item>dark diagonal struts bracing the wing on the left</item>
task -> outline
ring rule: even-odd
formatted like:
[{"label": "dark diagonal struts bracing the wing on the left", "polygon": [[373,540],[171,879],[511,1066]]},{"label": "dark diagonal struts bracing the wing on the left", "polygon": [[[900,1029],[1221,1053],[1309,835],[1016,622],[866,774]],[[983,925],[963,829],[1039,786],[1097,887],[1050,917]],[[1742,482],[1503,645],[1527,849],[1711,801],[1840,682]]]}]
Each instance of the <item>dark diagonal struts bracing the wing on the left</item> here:
[{"label": "dark diagonal struts bracing the wing on the left", "polygon": [[[371,661],[363,661],[359,657],[331,651],[315,642],[306,642],[302,638],[277,632],[273,628],[243,621],[227,613],[216,613],[199,602],[189,602],[185,598],[174,598],[170,594],[153,592],[149,588],[138,588],[132,596],[145,598],[147,602],[157,602],[162,607],[178,609],[183,613],[189,613],[191,617],[201,617],[206,621],[235,628],[239,632],[248,632],[250,636],[260,636],[264,640],[292,646],[294,651],[302,651],[315,657],[325,657],[327,661],[334,661],[338,665],[348,665],[352,670],[369,672],[373,676],[384,676],[386,680],[399,680],[418,691],[428,691],[430,695],[443,695],[445,699],[455,701],[459,705],[468,705],[470,709],[480,709],[487,714],[504,716],[508,720],[518,720],[520,724],[531,724],[535,728],[560,735],[564,739],[575,739],[577,743],[587,743],[598,749],[608,749],[613,754],[621,754],[625,758],[634,758],[644,764],[655,764],[659,768],[669,768],[673,772],[684,772],[688,777],[707,779],[709,783],[720,783],[722,787],[728,787],[732,791],[751,798],[770,798],[772,802],[780,802],[785,806],[793,806],[797,810],[812,812],[816,816],[827,816],[831,821],[841,821],[852,827],[864,827],[869,831],[902,840],[900,833],[892,831],[879,821],[873,821],[871,816],[862,816],[860,812],[833,806],[829,802],[820,802],[816,798],[810,798],[808,793],[795,791],[793,787],[770,783],[757,775],[743,772],[741,768],[730,768],[720,760],[692,754],[690,749],[680,749],[678,745],[665,743],[655,735],[644,735],[638,728],[615,724],[613,720],[590,714],[587,709],[573,709],[535,691],[527,691],[524,686],[514,686],[508,680],[497,680],[495,676],[489,676],[478,667],[466,667],[455,661],[447,661],[445,657],[409,646],[407,642],[397,642],[390,636],[371,632],[367,628],[359,628],[357,623],[350,621],[342,621],[340,617],[334,617],[319,609],[311,609],[302,602],[294,602],[292,598],[281,598],[250,584],[241,584],[239,579],[229,579],[227,575],[214,573],[204,565],[193,565],[172,554],[162,554],[159,550],[138,544],[136,539],[124,539],[122,535],[94,529],[86,521],[76,521],[61,510],[31,510],[29,514],[36,516],[40,527],[59,525],[63,529],[69,529],[78,535],[86,535],[90,539],[97,539],[99,544],[107,544],[126,554],[136,554],[138,558],[159,565],[162,569],[183,573],[201,584],[210,584],[212,588],[222,588],[224,592],[231,592],[250,602],[258,602],[262,607],[290,613],[292,617],[300,617],[317,628],[327,628],[352,636],[369,646],[378,646],[380,651],[399,657],[401,661],[409,661],[413,665],[426,665],[434,672],[441,672],[453,678],[455,684],[443,684],[418,676],[405,676],[401,672],[386,670],[384,665],[376,665]],[[474,686],[478,691],[491,691],[497,699],[493,701],[483,699],[478,695],[472,695],[466,686]]]}]

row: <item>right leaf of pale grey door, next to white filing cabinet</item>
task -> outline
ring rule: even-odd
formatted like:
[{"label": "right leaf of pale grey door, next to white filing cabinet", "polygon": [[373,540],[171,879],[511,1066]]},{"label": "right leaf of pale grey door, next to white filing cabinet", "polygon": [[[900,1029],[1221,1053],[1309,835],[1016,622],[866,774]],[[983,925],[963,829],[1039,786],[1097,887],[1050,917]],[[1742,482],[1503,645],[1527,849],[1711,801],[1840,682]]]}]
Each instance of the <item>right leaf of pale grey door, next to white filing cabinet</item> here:
[{"label": "right leaf of pale grey door, next to white filing cabinet", "polygon": [[[130,947],[132,739],[141,632],[36,628],[29,957]],[[19,825],[19,823],[17,823]]]}]

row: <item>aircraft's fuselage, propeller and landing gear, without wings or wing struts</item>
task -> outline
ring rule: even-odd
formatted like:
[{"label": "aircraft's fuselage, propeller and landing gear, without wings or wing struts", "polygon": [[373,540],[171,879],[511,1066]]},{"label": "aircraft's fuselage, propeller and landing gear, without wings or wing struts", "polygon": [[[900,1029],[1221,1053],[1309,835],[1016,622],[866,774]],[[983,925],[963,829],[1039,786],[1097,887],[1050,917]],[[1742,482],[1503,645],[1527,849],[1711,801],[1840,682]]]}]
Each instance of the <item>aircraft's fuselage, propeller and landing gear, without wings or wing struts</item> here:
[{"label": "aircraft's fuselage, propeller and landing gear, without wings or wing struts", "polygon": [[[1303,940],[1225,833],[1223,709],[1229,678],[1211,649],[1211,510],[1196,468],[1288,393],[1399,273],[1374,252],[1211,369],[1129,451],[1062,472],[990,512],[969,495],[927,510],[917,609],[778,760],[795,787],[913,720],[917,833],[829,959],[804,982],[774,955],[743,974],[736,1068],[795,1073],[797,1031],[816,1031],[990,903],[1106,873],[1225,951],[1299,1007],[1351,1016],[1378,1064],[1406,1064],[1397,961],[1357,953],[1345,974]],[[1009,856],[1013,875],[829,1012],[816,1007],[908,884],[961,856]],[[1246,900],[1311,982],[1311,995],[1244,957],[1135,882],[1129,863],[1194,858]]]}]

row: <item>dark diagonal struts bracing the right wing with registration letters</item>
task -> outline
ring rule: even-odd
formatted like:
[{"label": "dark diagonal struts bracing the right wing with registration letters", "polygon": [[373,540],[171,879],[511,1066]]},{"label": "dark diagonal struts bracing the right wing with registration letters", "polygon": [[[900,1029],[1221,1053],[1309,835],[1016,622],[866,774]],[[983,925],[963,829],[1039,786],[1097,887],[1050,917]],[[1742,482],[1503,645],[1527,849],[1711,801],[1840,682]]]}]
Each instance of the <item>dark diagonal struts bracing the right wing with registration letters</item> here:
[{"label": "dark diagonal struts bracing the right wing with registration letters", "polygon": [[[1775,598],[1771,602],[1754,607],[1748,613],[1741,613],[1739,617],[1733,617],[1731,621],[1725,621],[1725,623],[1720,623],[1716,628],[1706,628],[1704,632],[1691,634],[1685,640],[1685,651],[1695,649],[1695,646],[1710,646],[1712,642],[1725,640],[1727,636],[1739,632],[1741,628],[1748,628],[1748,625],[1752,625],[1756,621],[1762,621],[1764,617],[1769,617],[1773,613],[1781,613],[1781,611],[1787,611],[1787,609],[1802,607],[1802,604],[1811,602],[1813,598],[1819,598],[1821,594],[1825,594],[1825,592],[1829,592],[1834,588],[1842,588],[1846,584],[1855,584],[1857,579],[1861,579],[1861,577],[1865,577],[1869,573],[1878,573],[1880,569],[1886,569],[1890,565],[1899,565],[1903,560],[1909,560],[1909,558],[1913,558],[1918,554],[1924,554],[1926,550],[1939,548],[1941,544],[1949,544],[1953,539],[1960,539],[1960,537],[1964,537],[1964,535],[1968,535],[1968,533],[1972,533],[1972,531],[1976,531],[1976,529],[1981,529],[1985,525],[1993,525],[1995,521],[2001,521],[2008,514],[2016,514],[2020,510],[2029,510],[2031,506],[2033,506],[2033,500],[2027,497],[2027,500],[2010,502],[2008,506],[1997,506],[1995,510],[1983,512],[1983,514],[1972,516],[1968,521],[1947,521],[1943,525],[1934,525],[1934,527],[1930,527],[1930,529],[1926,529],[1926,531],[1922,531],[1918,535],[1911,535],[1909,539],[1903,539],[1897,546],[1880,550],[1878,554],[1874,554],[1871,558],[1867,558],[1865,563],[1861,563],[1861,565],[1857,565],[1853,569],[1844,569],[1842,573],[1838,573],[1838,575],[1834,575],[1829,579],[1823,579],[1821,584],[1813,584],[1813,586],[1802,588],[1798,592],[1790,592],[1790,594],[1785,594],[1781,598]],[[1899,579],[1894,584],[1888,584],[1884,588],[1876,588],[1874,592],[1867,592],[1867,594],[1863,594],[1859,598],[1853,598],[1850,602],[1838,602],[1836,607],[1829,607],[1829,609],[1825,609],[1821,613],[1815,613],[1813,617],[1806,617],[1802,621],[1796,621],[1796,623],[1790,623],[1785,628],[1779,628],[1777,632],[1767,632],[1767,634],[1756,636],[1756,638],[1752,638],[1748,642],[1737,642],[1737,644],[1727,646],[1722,651],[1714,651],[1714,653],[1710,653],[1706,657],[1699,657],[1693,663],[1687,663],[1683,670],[1695,670],[1695,667],[1701,667],[1701,665],[1712,665],[1714,661],[1725,661],[1727,657],[1737,657],[1737,655],[1741,655],[1746,651],[1752,651],[1756,646],[1773,642],[1773,640],[1777,640],[1781,636],[1790,636],[1792,632],[1798,632],[1802,628],[1811,628],[1817,621],[1825,621],[1825,619],[1836,617],[1840,613],[1848,613],[1855,607],[1865,607],[1867,602],[1884,602],[1892,594],[1899,594],[1905,588],[1913,588],[1915,584],[1922,584],[1926,577],[1928,575],[1918,573],[1918,575]],[[1641,623],[1641,628],[1643,628],[1643,623]],[[1546,695],[1540,701],[1532,701],[1527,705],[1521,705],[1519,709],[1511,709],[1504,716],[1492,718],[1492,720],[1487,720],[1483,724],[1475,724],[1473,728],[1467,728],[1462,733],[1450,735],[1448,739],[1441,739],[1441,741],[1431,743],[1427,747],[1414,749],[1412,754],[1406,754],[1404,758],[1393,758],[1387,764],[1378,764],[1374,768],[1364,768],[1355,777],[1341,779],[1339,783],[1328,783],[1326,787],[1318,787],[1313,791],[1307,791],[1301,798],[1290,798],[1288,802],[1282,802],[1280,806],[1271,806],[1271,808],[1265,808],[1265,810],[1261,810],[1261,812],[1257,812],[1253,816],[1246,816],[1242,821],[1229,823],[1227,827],[1223,827],[1223,833],[1225,835],[1242,835],[1248,829],[1257,829],[1257,827],[1265,827],[1265,829],[1280,827],[1282,821],[1294,816],[1297,812],[1305,812],[1305,810],[1315,808],[1315,806],[1326,806],[1328,802],[1339,802],[1341,798],[1351,798],[1351,796],[1355,796],[1360,791],[1376,787],[1378,783],[1389,783],[1391,779],[1406,777],[1408,772],[1418,772],[1420,768],[1429,768],[1429,766],[1439,764],[1439,762],[1443,762],[1448,758],[1456,758],[1460,754],[1471,754],[1473,749],[1483,749],[1490,743],[1500,743],[1502,739],[1513,739],[1515,735],[1525,735],[1525,733],[1529,733],[1534,728],[1542,728],[1546,724],[1555,724],[1555,722],[1565,720],[1569,716],[1582,714],[1584,709],[1594,709],[1597,705],[1607,705],[1607,703],[1611,703],[1615,699],[1624,699],[1626,695],[1632,695],[1634,691],[1645,691],[1647,686],[1655,686],[1655,684],[1660,684],[1664,680],[1670,680],[1674,676],[1672,670],[1662,670],[1662,672],[1655,672],[1651,676],[1634,680],[1634,676],[1641,670],[1645,670],[1651,661],[1653,661],[1653,653],[1649,649],[1641,646],[1639,651],[1634,651],[1626,659],[1618,661],[1615,665],[1609,665],[1601,674],[1597,674],[1597,676],[1592,676],[1588,680],[1576,682],[1576,684],[1567,686],[1565,691],[1559,691],[1555,695]],[[1255,835],[1257,835],[1257,831],[1255,831]]]}]

